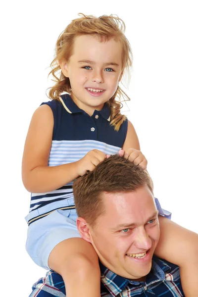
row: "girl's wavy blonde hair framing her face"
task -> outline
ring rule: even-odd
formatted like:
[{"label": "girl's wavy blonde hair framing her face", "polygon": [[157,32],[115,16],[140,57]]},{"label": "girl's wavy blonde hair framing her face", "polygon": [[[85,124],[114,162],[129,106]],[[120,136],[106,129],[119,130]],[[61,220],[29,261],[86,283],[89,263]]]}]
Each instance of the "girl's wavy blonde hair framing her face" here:
[{"label": "girl's wavy blonde hair framing her face", "polygon": [[[118,16],[102,15],[95,17],[93,15],[84,15],[79,13],[80,18],[74,19],[66,29],[60,34],[56,42],[55,58],[50,64],[55,85],[49,90],[49,98],[59,100],[59,96],[63,92],[70,93],[71,85],[69,78],[65,77],[61,71],[58,61],[68,60],[72,54],[74,39],[81,35],[93,35],[99,38],[100,42],[105,42],[110,38],[121,42],[122,44],[122,73],[127,71],[130,77],[130,68],[132,67],[132,51],[127,38],[124,35],[125,24]],[[121,79],[120,78],[120,79]],[[118,98],[118,100],[116,100]],[[124,91],[118,86],[115,94],[107,101],[110,106],[111,117],[110,124],[114,126],[116,131],[126,119],[125,115],[120,113],[123,101],[130,100]]]}]

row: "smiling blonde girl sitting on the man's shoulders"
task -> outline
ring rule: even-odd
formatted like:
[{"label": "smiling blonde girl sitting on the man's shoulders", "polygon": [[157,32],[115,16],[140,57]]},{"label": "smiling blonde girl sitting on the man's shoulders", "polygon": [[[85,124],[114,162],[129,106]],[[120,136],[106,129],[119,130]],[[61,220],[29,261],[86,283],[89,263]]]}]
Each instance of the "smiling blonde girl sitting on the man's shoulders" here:
[{"label": "smiling blonde girl sitting on the man's shoulders", "polygon": [[[127,96],[119,82],[132,66],[124,29],[114,16],[83,15],[67,26],[51,63],[52,100],[33,114],[25,142],[22,178],[32,192],[26,248],[35,263],[61,274],[67,297],[100,296],[98,256],[77,231],[72,181],[118,152],[147,167],[135,129],[120,113]],[[156,255],[180,266],[184,292],[195,297],[198,237],[159,220]]]}]

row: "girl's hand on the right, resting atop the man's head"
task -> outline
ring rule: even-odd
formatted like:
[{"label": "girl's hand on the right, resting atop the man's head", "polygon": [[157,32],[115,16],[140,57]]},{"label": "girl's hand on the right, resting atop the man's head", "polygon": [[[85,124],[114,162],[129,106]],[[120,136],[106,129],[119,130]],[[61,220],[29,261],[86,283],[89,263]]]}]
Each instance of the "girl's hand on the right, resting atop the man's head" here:
[{"label": "girl's hand on the right, resting atop the man's head", "polygon": [[135,148],[128,148],[126,150],[120,149],[118,152],[119,156],[129,159],[136,165],[139,165],[143,169],[147,169],[147,159],[145,158],[142,151]]}]

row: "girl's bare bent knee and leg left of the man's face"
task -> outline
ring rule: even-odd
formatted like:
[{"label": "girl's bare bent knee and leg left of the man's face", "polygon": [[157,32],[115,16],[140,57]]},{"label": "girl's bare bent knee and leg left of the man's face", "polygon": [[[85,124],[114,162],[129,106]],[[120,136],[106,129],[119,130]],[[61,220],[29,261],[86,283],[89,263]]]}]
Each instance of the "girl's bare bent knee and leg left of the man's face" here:
[{"label": "girl's bare bent knee and leg left of the man's face", "polygon": [[62,276],[67,297],[100,297],[98,255],[84,239],[60,242],[49,254],[48,264]]}]

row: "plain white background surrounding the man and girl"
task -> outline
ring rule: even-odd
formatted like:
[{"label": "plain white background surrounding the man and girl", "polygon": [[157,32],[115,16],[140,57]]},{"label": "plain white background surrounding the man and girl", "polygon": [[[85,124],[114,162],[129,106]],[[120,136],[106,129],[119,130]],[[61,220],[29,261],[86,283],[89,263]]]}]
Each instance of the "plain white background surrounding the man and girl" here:
[{"label": "plain white background surrounding the man and girl", "polygon": [[125,21],[134,56],[126,114],[148,159],[155,197],[172,211],[172,220],[198,232],[197,3],[19,0],[1,7],[2,296],[29,296],[46,272],[25,251],[30,194],[21,181],[21,158],[31,116],[48,100],[56,39],[79,12],[113,13]]}]

